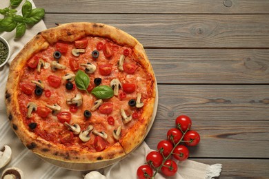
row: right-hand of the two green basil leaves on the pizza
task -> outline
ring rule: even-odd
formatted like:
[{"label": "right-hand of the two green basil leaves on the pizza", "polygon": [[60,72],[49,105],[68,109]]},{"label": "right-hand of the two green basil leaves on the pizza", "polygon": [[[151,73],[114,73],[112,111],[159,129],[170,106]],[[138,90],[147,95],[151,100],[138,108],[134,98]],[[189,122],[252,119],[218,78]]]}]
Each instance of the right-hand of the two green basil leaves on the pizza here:
[{"label": "right-hand of the two green basil leaves on the pizza", "polygon": [[94,89],[92,89],[92,94],[99,99],[108,99],[114,96],[114,91],[109,86],[101,85],[94,87]]}]

